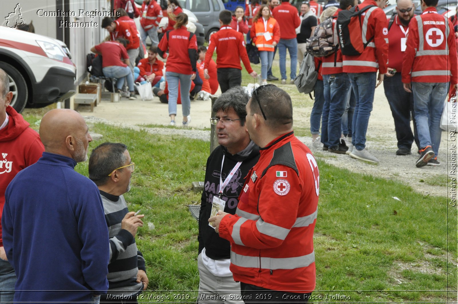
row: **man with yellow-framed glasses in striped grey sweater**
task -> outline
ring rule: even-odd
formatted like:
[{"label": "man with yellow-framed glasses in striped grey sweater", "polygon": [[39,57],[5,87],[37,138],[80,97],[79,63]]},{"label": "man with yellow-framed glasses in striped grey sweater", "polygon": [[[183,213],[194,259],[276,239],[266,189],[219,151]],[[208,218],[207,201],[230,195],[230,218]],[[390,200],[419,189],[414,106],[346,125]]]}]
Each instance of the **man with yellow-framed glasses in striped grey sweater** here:
[{"label": "man with yellow-framed glasses in striped grey sweater", "polygon": [[127,301],[131,299],[136,303],[136,295],[148,286],[145,259],[135,244],[144,215],[129,212],[123,196],[131,188],[134,170],[135,163],[121,143],[104,142],[89,158],[89,178],[97,185],[102,198],[110,243],[109,289],[100,302],[123,295]]}]

